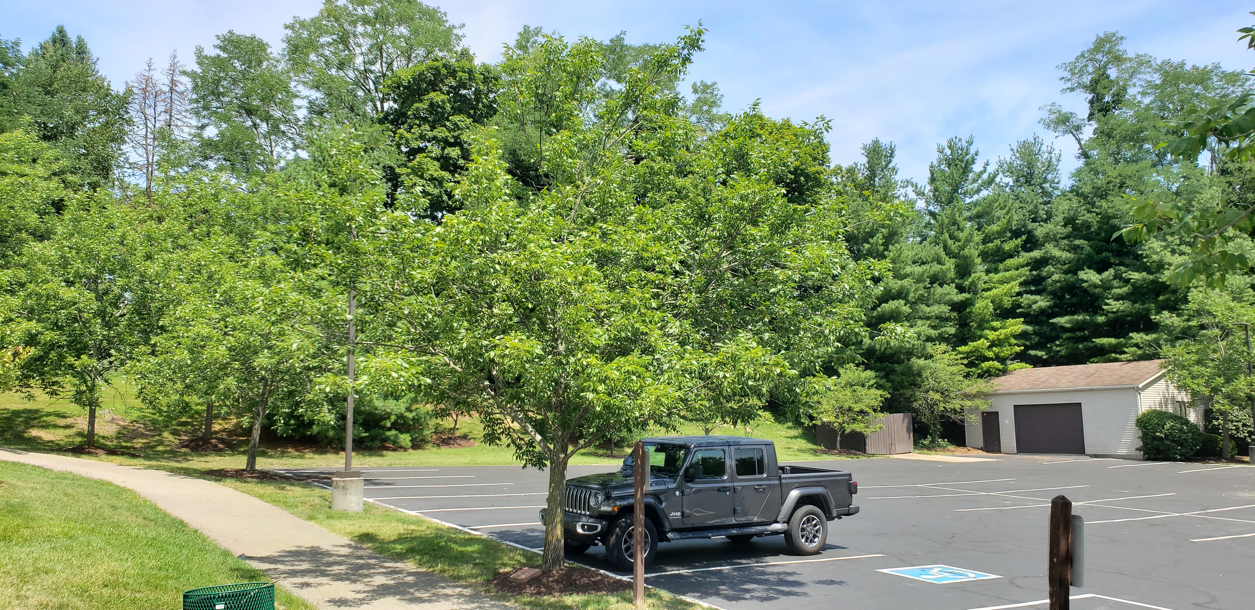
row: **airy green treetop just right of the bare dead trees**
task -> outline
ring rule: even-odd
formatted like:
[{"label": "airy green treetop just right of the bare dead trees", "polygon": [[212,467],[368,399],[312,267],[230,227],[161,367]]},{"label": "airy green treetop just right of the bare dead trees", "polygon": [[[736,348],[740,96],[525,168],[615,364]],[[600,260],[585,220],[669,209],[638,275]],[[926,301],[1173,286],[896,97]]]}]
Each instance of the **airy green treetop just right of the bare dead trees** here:
[{"label": "airy green treetop just right of the bare dead trees", "polygon": [[227,31],[213,50],[197,46],[196,69],[184,73],[198,156],[241,178],[271,172],[300,141],[291,74],[257,36]]}]

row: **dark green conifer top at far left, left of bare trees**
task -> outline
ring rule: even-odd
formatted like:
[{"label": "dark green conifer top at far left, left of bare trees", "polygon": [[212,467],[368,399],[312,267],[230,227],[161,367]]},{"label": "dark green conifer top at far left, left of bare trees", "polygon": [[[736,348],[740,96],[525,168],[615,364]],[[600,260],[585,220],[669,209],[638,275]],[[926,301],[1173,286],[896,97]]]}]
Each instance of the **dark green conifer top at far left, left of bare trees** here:
[{"label": "dark green conifer top at far left, left of bare trees", "polygon": [[97,69],[83,36],[58,26],[53,35],[16,59],[16,44],[0,53],[5,77],[0,90],[0,129],[26,126],[56,147],[70,171],[87,186],[113,179],[122,158],[129,114],[127,95],[113,90]]}]

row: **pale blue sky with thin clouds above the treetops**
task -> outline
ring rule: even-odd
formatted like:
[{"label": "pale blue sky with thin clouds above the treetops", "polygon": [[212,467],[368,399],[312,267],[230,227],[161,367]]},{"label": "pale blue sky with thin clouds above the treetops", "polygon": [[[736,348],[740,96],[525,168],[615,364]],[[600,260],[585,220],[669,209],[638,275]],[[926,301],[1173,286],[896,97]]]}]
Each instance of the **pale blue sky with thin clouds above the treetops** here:
[{"label": "pale blue sky with thin clouds above the treetops", "polygon": [[[25,46],[64,24],[83,35],[100,69],[120,85],[144,60],[235,29],[274,44],[292,15],[318,11],[316,0],[0,0],[0,36]],[[714,80],[729,109],[756,99],[773,117],[832,119],[835,162],[858,161],[872,137],[899,147],[904,177],[922,179],[935,146],[950,136],[976,137],[986,158],[1040,133],[1039,108],[1060,102],[1055,65],[1093,36],[1118,30],[1126,46],[1157,58],[1231,69],[1255,67],[1255,53],[1234,30],[1255,23],[1255,6],[1230,0],[1087,1],[507,1],[432,3],[466,24],[466,43],[496,60],[518,29],[540,25],[567,36],[629,41],[673,40],[698,20],[709,29],[693,79]],[[1073,166],[1074,146],[1055,141]]]}]

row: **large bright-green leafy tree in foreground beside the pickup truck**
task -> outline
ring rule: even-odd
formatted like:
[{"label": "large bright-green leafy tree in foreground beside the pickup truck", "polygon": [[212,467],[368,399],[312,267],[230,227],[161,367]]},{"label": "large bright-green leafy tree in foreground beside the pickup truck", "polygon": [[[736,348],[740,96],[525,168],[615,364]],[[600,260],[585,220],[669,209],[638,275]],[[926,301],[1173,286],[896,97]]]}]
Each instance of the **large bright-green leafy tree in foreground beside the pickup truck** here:
[{"label": "large bright-green leafy tree in foreground beside the pickup truck", "polygon": [[861,328],[867,272],[846,265],[838,206],[807,187],[823,185],[806,161],[822,138],[749,113],[705,139],[663,87],[699,48],[700,30],[659,48],[615,90],[595,41],[507,51],[498,117],[543,107],[558,127],[528,144],[547,186],[525,188],[484,141],[461,211],[356,232],[366,385],[474,410],[488,442],[548,469],[548,570],[576,451],[670,424],[694,395],[787,395]]}]

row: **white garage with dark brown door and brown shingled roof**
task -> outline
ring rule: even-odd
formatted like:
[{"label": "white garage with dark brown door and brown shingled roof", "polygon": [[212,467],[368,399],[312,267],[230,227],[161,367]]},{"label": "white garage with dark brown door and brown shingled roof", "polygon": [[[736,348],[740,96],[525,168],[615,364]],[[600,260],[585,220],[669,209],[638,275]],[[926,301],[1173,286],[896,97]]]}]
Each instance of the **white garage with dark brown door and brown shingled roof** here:
[{"label": "white garage with dark brown door and brown shingled roof", "polygon": [[1201,424],[1160,369],[1162,360],[1020,369],[994,380],[991,404],[968,419],[968,447],[991,453],[1067,453],[1141,459],[1135,419],[1171,410]]}]

